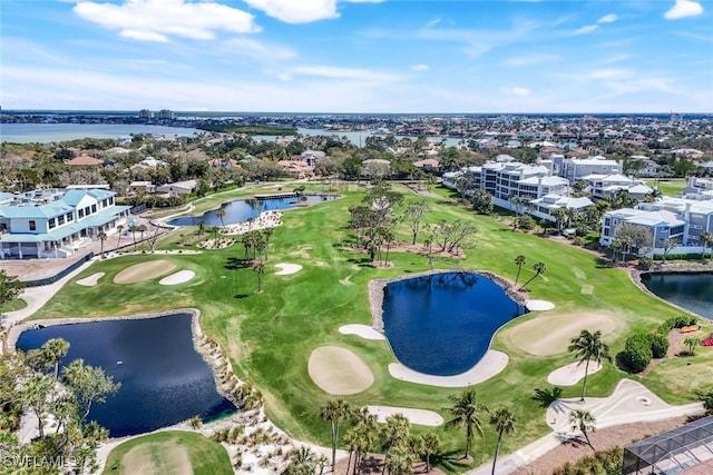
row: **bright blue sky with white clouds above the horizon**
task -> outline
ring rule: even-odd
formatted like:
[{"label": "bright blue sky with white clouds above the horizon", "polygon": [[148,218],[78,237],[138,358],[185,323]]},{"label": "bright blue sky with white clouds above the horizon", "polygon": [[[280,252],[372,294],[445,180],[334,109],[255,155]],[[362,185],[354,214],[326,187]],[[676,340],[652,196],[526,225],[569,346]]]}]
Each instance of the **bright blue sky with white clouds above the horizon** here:
[{"label": "bright blue sky with white clouds above the horizon", "polygon": [[4,109],[713,112],[713,2],[2,0]]}]

